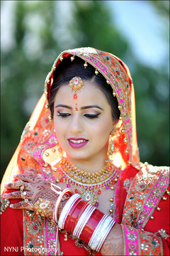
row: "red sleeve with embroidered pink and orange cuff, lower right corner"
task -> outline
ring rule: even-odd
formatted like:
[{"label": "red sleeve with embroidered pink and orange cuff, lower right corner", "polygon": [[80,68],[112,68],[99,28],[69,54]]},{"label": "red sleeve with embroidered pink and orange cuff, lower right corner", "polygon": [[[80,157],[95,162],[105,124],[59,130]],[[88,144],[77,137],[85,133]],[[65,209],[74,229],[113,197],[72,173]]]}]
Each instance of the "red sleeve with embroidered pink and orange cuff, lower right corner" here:
[{"label": "red sleeve with embroidered pink and orange cuff, lower right corner", "polygon": [[123,230],[124,255],[170,255],[169,252],[169,187],[149,217],[145,228],[125,223]]}]

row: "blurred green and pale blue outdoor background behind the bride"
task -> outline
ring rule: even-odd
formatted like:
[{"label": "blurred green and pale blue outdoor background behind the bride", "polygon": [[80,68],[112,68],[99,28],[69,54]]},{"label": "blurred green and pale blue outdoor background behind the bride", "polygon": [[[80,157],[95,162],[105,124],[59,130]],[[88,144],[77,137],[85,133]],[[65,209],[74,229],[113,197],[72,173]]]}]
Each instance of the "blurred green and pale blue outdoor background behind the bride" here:
[{"label": "blurred green and pale blue outdoor background behind the bride", "polygon": [[83,46],[128,65],[140,159],[169,166],[169,1],[1,1],[1,176],[53,61]]}]

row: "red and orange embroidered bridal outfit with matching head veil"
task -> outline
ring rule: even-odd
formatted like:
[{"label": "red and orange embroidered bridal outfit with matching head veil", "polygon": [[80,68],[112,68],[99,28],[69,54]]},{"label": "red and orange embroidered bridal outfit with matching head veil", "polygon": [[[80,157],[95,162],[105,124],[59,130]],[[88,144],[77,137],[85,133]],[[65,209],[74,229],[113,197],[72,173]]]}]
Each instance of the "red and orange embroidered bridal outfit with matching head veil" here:
[{"label": "red and orange embroidered bridal outfit with matching head veil", "polygon": [[[91,64],[113,88],[118,99],[120,120],[113,142],[112,156],[119,176],[103,189],[113,189],[110,214],[123,230],[124,255],[169,255],[169,169],[140,163],[135,122],[135,94],[130,71],[122,60],[111,53],[94,48],[77,48],[62,52],[45,80],[45,92],[35,107],[11,159],[3,183],[12,174],[41,174],[56,183],[54,161],[60,165],[57,138],[53,131],[48,100],[53,74],[64,58],[74,56]],[[60,176],[61,178],[61,176]],[[73,182],[65,179],[67,186]],[[107,186],[105,186],[107,185]],[[98,186],[95,187],[98,190]],[[3,193],[6,189],[1,187]],[[86,190],[86,186],[84,188]],[[13,190],[15,191],[15,190]],[[74,189],[73,189],[74,191]],[[74,191],[74,193],[79,190]],[[85,191],[86,192],[86,191]],[[102,191],[101,191],[102,193]],[[16,203],[20,199],[10,200]],[[89,255],[91,251],[81,240],[59,233],[48,218],[31,210],[14,210],[1,198],[1,255]],[[109,209],[108,209],[109,210]],[[96,255],[101,255],[96,252]]]}]

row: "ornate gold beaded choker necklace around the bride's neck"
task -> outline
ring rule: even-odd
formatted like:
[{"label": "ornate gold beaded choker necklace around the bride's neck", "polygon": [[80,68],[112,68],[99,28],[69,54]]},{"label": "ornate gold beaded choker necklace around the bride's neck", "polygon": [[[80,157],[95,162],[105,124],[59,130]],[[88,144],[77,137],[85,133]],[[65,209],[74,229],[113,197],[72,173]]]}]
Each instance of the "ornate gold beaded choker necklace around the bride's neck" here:
[{"label": "ornate gold beaded choker necklace around the bride's neck", "polygon": [[67,188],[74,187],[74,192],[79,193],[85,201],[90,201],[93,206],[98,206],[98,195],[102,189],[114,189],[118,181],[119,170],[106,161],[106,165],[94,173],[82,171],[67,159],[62,157],[60,166],[56,169],[59,176],[57,182],[67,183]]}]

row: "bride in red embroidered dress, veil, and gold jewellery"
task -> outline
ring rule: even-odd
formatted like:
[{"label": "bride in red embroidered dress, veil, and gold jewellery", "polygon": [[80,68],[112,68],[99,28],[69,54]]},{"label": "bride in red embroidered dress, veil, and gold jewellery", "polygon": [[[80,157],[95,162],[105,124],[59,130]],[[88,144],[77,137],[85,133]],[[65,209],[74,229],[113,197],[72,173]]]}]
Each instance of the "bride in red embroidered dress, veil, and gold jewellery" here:
[{"label": "bride in red embroidered dress, veil, and gold jewellery", "polygon": [[57,57],[2,185],[2,255],[169,255],[169,169],[140,162],[111,53]]}]

